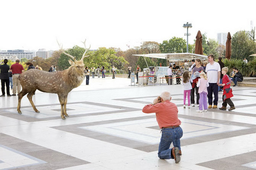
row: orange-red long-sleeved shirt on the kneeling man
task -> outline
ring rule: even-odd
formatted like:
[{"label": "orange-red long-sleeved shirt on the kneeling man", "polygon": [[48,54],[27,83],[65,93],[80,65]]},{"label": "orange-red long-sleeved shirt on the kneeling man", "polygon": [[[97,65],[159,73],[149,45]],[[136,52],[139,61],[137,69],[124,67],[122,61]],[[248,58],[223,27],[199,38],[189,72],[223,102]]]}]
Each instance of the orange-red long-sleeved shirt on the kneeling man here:
[{"label": "orange-red long-sleeved shirt on the kneeling man", "polygon": [[176,104],[170,101],[155,105],[147,104],[143,107],[142,112],[156,113],[156,120],[160,128],[181,124],[181,121],[178,119],[178,108]]}]

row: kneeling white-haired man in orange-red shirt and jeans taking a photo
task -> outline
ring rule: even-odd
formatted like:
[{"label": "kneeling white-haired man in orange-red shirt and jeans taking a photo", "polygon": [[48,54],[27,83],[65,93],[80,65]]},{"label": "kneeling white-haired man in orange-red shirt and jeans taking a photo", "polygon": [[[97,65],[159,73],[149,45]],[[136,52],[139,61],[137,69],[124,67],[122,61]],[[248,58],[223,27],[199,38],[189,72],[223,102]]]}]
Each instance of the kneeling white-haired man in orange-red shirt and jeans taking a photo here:
[{"label": "kneeling white-haired man in orange-red shirt and jeans taking a photo", "polygon": [[[176,104],[170,102],[171,94],[164,91],[161,96],[154,99],[153,103],[147,104],[143,108],[144,113],[156,113],[156,120],[162,129],[162,137],[158,149],[160,159],[175,159],[175,163],[180,162],[180,138],[183,130],[180,127],[181,121],[178,119],[178,108]],[[174,148],[170,149],[173,142]]]}]

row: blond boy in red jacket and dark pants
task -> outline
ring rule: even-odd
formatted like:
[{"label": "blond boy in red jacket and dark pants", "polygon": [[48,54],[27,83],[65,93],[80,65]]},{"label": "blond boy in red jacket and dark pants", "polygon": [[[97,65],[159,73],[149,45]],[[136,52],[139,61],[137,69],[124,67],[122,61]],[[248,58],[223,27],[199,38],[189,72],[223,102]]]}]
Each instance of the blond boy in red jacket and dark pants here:
[{"label": "blond boy in red jacket and dark pants", "polygon": [[219,109],[226,110],[227,104],[228,104],[230,106],[230,109],[228,110],[232,111],[235,109],[235,105],[230,99],[233,97],[233,93],[232,93],[232,88],[230,88],[231,79],[228,77],[227,72],[228,72],[228,68],[223,67],[221,70],[221,73],[223,74],[222,84],[219,84],[219,86],[223,87],[223,95],[222,95],[223,103],[222,103],[222,107],[220,107]]}]

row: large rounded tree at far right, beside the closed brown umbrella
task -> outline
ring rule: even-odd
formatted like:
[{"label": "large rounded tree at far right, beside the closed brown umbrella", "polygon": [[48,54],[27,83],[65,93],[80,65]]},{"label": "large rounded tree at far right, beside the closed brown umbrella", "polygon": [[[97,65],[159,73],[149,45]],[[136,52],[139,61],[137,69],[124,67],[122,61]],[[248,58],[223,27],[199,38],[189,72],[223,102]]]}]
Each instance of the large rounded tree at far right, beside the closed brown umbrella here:
[{"label": "large rounded tree at far right, beside the closed brown umbrella", "polygon": [[243,30],[236,32],[232,37],[232,54],[233,59],[252,59],[251,54],[256,53],[256,44],[249,35]]}]

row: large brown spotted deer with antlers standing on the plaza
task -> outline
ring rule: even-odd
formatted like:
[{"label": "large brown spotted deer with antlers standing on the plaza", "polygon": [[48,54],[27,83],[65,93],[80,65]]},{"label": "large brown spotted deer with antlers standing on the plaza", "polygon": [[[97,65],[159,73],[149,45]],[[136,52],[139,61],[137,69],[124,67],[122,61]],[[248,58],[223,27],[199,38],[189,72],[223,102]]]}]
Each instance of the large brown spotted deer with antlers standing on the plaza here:
[{"label": "large brown spotted deer with antlers standing on the plaza", "polygon": [[32,101],[32,96],[34,95],[35,91],[39,90],[46,93],[57,93],[61,106],[61,118],[65,120],[66,117],[69,117],[69,115],[66,113],[68,93],[73,88],[81,85],[85,78],[84,74],[87,73],[83,60],[85,57],[87,57],[86,52],[91,48],[91,45],[89,48],[86,48],[86,40],[84,40],[82,43],[84,44],[85,51],[80,60],[76,60],[75,57],[65,53],[63,50],[63,45],[58,43],[60,51],[71,58],[68,60],[69,64],[71,65],[68,69],[55,72],[29,69],[28,71],[19,75],[18,80],[20,81],[22,87],[21,92],[18,94],[17,111],[19,114],[22,114],[20,110],[21,99],[26,94],[28,94],[27,97],[34,111],[40,113]]}]

